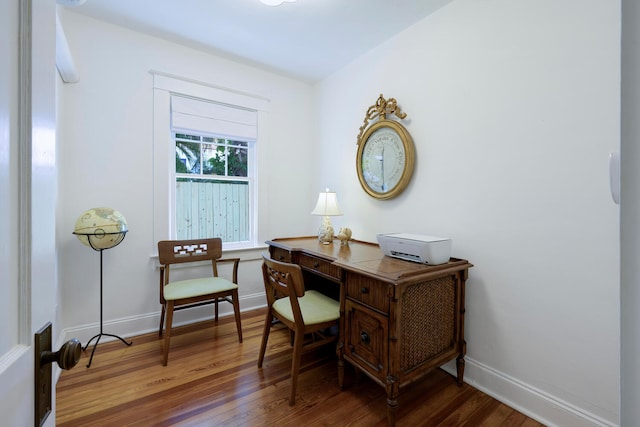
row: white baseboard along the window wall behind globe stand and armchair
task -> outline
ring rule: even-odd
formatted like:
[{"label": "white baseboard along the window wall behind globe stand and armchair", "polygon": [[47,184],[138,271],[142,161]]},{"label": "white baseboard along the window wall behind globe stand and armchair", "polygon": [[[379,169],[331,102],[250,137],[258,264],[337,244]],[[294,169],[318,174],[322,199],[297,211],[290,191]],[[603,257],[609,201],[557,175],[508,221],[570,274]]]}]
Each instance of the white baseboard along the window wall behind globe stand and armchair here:
[{"label": "white baseboard along the window wall behind globe stand and armchair", "polygon": [[[266,306],[266,298],[264,292],[244,295],[240,297],[240,310],[249,311],[256,308]],[[221,317],[233,314],[231,304],[220,304],[219,315]],[[204,321],[211,319],[211,306],[195,307],[190,310],[176,312],[173,317],[173,326],[181,326],[189,323]],[[142,335],[158,330],[160,324],[160,310],[153,313],[140,314],[137,316],[123,317],[115,320],[108,320],[103,323],[103,332],[118,335],[122,338],[130,338],[136,335]],[[61,331],[58,339],[59,343],[64,343],[71,338],[77,338],[82,345],[100,332],[100,323],[89,323],[86,325],[66,328]],[[100,342],[113,341],[116,338],[104,336],[100,338]],[[94,341],[95,342],[95,341]],[[91,343],[93,345],[93,342]]]}]

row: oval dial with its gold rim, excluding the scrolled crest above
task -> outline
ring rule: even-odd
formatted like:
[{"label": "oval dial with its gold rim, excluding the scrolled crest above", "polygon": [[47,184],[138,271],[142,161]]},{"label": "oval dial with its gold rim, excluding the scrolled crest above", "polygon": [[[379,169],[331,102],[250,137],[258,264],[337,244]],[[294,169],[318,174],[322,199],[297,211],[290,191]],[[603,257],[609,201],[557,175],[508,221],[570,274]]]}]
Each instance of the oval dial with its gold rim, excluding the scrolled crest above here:
[{"label": "oval dial with its gold rim, excluding the scrolled crest above", "polygon": [[363,135],[358,148],[358,178],[369,195],[379,199],[397,196],[413,170],[413,143],[397,122],[381,120]]}]

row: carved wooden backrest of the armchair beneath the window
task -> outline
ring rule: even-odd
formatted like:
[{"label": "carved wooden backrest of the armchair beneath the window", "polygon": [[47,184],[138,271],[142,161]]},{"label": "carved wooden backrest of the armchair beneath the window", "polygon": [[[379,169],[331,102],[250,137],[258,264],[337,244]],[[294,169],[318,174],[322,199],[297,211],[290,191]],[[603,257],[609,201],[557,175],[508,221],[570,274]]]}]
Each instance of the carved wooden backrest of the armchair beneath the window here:
[{"label": "carved wooden backrest of the armchair beneath the window", "polygon": [[160,264],[213,261],[222,257],[222,239],[162,240],[158,242]]}]

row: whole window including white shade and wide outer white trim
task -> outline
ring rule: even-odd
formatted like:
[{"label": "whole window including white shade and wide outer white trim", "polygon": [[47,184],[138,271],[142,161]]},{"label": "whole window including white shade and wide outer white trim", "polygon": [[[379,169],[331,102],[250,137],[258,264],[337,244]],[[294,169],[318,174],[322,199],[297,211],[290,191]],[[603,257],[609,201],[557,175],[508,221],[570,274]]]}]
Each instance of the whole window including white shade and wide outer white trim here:
[{"label": "whole window including white shade and wide outer white trim", "polygon": [[258,191],[266,153],[258,149],[266,144],[258,122],[269,101],[152,74],[153,252],[159,240],[173,238],[221,237],[224,250],[260,247],[265,216],[258,207],[267,194]]}]

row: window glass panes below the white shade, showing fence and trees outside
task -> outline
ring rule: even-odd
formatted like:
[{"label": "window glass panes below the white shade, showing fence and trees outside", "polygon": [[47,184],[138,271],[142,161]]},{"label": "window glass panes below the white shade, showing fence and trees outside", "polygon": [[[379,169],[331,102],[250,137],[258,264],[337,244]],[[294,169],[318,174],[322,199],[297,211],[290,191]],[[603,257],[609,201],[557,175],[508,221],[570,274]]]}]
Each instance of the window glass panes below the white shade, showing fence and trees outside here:
[{"label": "window glass panes below the white shade, showing fence and trees outside", "polygon": [[204,135],[174,134],[176,238],[251,240],[252,143]]}]

